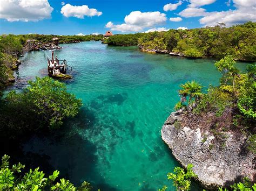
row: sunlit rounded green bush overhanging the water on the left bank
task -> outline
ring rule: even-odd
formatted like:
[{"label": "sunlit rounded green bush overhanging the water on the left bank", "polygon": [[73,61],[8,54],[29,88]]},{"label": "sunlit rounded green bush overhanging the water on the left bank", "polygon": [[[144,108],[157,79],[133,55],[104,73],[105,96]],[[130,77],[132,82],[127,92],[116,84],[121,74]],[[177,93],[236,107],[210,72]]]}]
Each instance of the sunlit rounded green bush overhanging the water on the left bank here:
[{"label": "sunlit rounded green bush overhanging the water on the left bank", "polygon": [[66,91],[64,83],[48,76],[42,79],[37,77],[36,81],[28,83],[29,86],[20,94],[11,91],[6,101],[12,105],[28,105],[30,110],[52,127],[61,125],[65,117],[77,115],[82,102]]}]

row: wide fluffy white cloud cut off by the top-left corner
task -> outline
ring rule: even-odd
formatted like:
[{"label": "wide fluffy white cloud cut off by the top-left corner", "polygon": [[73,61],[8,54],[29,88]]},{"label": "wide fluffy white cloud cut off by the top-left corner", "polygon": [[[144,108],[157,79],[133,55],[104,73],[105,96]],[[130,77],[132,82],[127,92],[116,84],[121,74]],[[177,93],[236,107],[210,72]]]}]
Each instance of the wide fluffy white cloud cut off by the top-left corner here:
[{"label": "wide fluffy white cloud cut off by the top-left corner", "polygon": [[36,22],[51,18],[52,11],[48,0],[0,0],[0,18],[9,22]]}]

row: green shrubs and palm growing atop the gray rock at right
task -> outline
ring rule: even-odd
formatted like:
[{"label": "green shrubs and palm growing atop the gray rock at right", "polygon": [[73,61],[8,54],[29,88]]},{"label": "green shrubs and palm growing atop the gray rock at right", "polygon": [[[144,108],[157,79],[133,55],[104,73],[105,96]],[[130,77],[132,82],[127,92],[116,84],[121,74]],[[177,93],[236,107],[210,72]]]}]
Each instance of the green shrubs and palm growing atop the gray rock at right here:
[{"label": "green shrubs and palm growing atop the gray rock at right", "polygon": [[248,65],[247,73],[241,74],[233,57],[227,55],[215,62],[215,66],[222,75],[220,86],[210,86],[207,94],[203,94],[198,82],[181,84],[181,102],[174,109],[190,111],[188,118],[193,118],[204,130],[212,132],[220,148],[226,145],[225,131],[240,130],[247,136],[247,149],[255,153],[255,64]]}]

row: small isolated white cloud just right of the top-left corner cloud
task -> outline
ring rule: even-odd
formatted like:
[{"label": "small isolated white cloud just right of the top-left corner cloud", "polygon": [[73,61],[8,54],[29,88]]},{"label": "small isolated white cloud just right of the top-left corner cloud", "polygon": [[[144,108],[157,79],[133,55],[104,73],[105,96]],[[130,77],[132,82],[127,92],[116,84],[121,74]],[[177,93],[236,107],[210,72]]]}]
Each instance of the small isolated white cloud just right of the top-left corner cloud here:
[{"label": "small isolated white cloud just right of the top-left corner cloud", "polygon": [[61,13],[65,17],[77,17],[80,19],[83,19],[84,16],[93,17],[102,15],[102,12],[97,9],[90,9],[87,5],[73,6],[71,4],[64,5]]}]

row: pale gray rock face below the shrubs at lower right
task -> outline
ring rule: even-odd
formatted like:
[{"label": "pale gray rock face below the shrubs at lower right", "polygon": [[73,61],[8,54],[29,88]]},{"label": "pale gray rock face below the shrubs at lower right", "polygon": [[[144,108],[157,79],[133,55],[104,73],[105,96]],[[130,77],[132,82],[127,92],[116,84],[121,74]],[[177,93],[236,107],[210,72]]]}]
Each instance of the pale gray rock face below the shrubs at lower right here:
[{"label": "pale gray rock face below the shrubs at lower right", "polygon": [[177,128],[179,120],[179,112],[173,112],[161,129],[161,137],[183,167],[189,163],[194,165],[193,171],[203,187],[229,186],[244,176],[253,180],[255,155],[246,151],[245,136],[235,137],[232,132],[227,132],[226,146],[212,147],[215,137],[210,132],[202,135],[199,128]]}]

